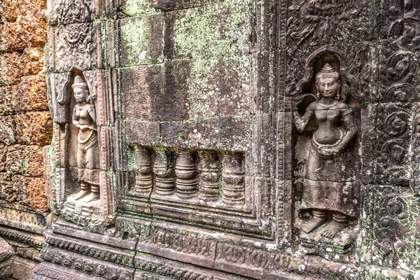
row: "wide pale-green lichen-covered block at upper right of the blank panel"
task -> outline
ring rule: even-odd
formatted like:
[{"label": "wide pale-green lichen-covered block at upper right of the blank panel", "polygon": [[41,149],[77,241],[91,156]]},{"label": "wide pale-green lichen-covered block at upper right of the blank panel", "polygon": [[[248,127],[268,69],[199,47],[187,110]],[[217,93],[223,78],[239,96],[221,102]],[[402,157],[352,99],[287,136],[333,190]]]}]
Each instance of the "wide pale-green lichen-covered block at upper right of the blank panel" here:
[{"label": "wide pale-green lichen-covered block at upper right of the blank panel", "polygon": [[[162,6],[163,3],[181,2],[160,1]],[[174,59],[205,59],[248,55],[253,36],[251,6],[249,0],[234,5],[221,1],[169,13],[169,30],[165,31],[172,37],[173,53],[169,56]],[[198,69],[198,64],[203,62],[197,60],[196,63]]]}]

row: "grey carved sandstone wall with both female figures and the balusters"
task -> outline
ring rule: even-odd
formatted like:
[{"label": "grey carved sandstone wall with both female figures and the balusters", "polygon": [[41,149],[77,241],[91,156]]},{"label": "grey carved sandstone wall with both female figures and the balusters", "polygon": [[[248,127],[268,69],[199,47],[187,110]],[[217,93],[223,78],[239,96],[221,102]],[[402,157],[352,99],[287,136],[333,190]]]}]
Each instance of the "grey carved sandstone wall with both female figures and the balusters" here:
[{"label": "grey carved sandstone wall with both female figures and the balusters", "polygon": [[31,279],[419,279],[420,1],[47,10]]}]

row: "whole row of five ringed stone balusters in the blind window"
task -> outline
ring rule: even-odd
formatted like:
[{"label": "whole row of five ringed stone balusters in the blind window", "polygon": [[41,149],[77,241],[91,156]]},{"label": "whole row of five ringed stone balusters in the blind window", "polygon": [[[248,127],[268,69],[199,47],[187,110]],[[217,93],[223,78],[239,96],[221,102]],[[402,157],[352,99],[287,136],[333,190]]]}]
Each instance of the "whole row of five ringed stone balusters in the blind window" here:
[{"label": "whole row of five ringed stone balusters in the blind window", "polygon": [[191,151],[178,148],[136,146],[136,183],[131,194],[173,195],[188,200],[244,204],[244,154],[241,152]]}]

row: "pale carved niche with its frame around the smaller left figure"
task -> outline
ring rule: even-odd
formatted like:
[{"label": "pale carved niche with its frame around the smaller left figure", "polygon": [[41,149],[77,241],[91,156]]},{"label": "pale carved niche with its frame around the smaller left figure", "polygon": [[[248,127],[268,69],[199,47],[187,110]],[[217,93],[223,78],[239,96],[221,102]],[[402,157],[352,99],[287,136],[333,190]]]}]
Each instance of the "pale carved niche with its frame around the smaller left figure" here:
[{"label": "pale carved niche with its frame around the smaller left figure", "polygon": [[[53,139],[52,210],[62,218],[97,228],[109,222],[110,131],[100,71],[50,75]],[[75,94],[76,92],[76,94]],[[77,97],[77,99],[76,99]]]}]

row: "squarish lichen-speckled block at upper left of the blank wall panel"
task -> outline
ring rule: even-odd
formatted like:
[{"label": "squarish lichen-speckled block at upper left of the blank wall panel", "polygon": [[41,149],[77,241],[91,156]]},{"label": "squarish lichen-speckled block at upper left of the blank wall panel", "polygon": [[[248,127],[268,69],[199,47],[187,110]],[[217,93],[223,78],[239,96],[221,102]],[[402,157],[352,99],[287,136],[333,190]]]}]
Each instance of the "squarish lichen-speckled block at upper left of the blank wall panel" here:
[{"label": "squarish lichen-speckled block at upper left of the blank wall panel", "polygon": [[143,15],[118,21],[120,66],[163,62],[163,15]]}]

